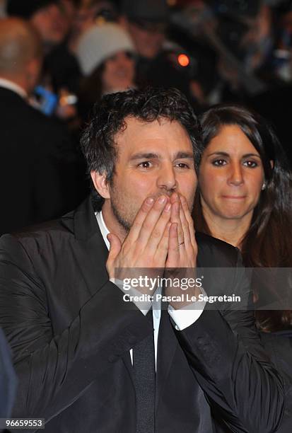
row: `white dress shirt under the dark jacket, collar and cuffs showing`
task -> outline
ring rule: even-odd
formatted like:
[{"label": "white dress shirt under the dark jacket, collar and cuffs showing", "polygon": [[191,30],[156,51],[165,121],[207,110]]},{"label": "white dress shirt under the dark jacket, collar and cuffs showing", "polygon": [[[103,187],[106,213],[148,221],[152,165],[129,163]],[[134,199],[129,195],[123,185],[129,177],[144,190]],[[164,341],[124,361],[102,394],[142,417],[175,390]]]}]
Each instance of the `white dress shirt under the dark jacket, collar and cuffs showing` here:
[{"label": "white dress shirt under the dark jacket, collar and cuffs showing", "polygon": [[[105,221],[103,219],[103,213],[102,212],[95,212],[95,217],[98,221],[98,226],[100,228],[100,232],[103,235],[103,240],[105,241],[105,245],[107,246],[107,250],[110,250],[110,242],[107,240],[107,235],[110,233],[108,231],[107,226],[105,225]],[[119,284],[119,282],[115,282],[114,279],[110,279],[110,281],[114,282],[119,289],[124,291],[122,284]],[[127,294],[140,294],[139,291],[134,289],[133,287],[129,290],[124,291],[124,293]],[[155,294],[161,293],[161,288],[158,287]],[[139,302],[134,302],[136,306],[139,308],[141,313],[146,316],[148,311],[150,310],[151,306],[153,307],[152,314],[153,314],[153,332],[154,332],[154,350],[155,350],[155,364],[157,360],[157,344],[158,344],[158,330],[159,330],[159,323],[160,323],[160,316],[161,316],[161,301],[156,300],[156,296],[153,296],[153,302],[149,301],[148,303],[146,301],[143,301],[142,305],[139,304]],[[187,328],[189,325],[192,325],[195,321],[198,320],[199,316],[201,316],[202,312],[204,311],[204,306],[206,305],[206,302],[200,302],[200,306],[202,308],[200,309],[194,309],[193,304],[189,304],[185,308],[180,308],[180,310],[175,310],[173,306],[168,306],[168,314],[173,319],[173,322],[175,323],[175,328],[177,330],[183,330]],[[133,350],[130,350],[130,355],[133,363]]]}]

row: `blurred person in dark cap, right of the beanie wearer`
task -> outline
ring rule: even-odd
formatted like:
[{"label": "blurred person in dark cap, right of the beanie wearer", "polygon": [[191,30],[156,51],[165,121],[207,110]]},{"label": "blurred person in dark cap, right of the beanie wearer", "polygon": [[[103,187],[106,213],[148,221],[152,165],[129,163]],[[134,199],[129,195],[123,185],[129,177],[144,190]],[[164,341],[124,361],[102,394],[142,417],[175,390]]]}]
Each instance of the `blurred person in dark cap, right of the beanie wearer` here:
[{"label": "blurred person in dark cap, right of the beanie wearer", "polygon": [[177,52],[166,43],[165,31],[170,18],[167,1],[123,0],[121,16],[120,22],[131,35],[137,52],[137,86],[179,88],[196,106],[189,67],[180,66]]}]

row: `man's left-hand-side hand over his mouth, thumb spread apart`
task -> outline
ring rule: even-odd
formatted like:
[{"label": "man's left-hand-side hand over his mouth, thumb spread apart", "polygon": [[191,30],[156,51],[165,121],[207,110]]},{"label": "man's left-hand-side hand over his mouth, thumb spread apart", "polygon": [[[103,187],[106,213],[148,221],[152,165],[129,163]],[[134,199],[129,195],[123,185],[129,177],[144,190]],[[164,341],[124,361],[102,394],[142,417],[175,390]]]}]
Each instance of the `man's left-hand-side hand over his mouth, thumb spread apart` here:
[{"label": "man's left-hand-side hand over his mouth, thumb spread apart", "polygon": [[[155,201],[148,197],[123,243],[113,233],[107,236],[110,254],[106,266],[110,278],[115,277],[117,268],[164,269],[168,255],[170,208],[169,197],[160,195]],[[120,275],[119,279],[122,279]]]}]

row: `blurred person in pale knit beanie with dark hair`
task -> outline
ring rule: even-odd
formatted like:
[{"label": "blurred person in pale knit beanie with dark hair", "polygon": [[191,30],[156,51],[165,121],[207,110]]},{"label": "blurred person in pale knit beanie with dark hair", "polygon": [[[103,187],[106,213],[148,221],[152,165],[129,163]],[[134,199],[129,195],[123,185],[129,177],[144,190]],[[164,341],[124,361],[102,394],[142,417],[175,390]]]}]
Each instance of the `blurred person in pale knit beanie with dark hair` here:
[{"label": "blurred person in pale knit beanie with dark hair", "polygon": [[83,73],[78,95],[83,120],[103,94],[135,87],[134,44],[121,25],[91,26],[78,41],[76,57]]}]

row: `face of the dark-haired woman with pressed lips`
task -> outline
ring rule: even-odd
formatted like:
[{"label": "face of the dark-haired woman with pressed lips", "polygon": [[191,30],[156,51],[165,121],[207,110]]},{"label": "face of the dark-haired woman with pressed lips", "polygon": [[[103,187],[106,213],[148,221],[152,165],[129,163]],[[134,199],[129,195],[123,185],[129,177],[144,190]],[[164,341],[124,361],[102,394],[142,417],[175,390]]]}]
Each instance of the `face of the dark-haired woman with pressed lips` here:
[{"label": "face of the dark-haired woman with pressed lips", "polygon": [[237,125],[223,126],[204,150],[199,187],[204,216],[251,219],[264,183],[259,153]]}]

